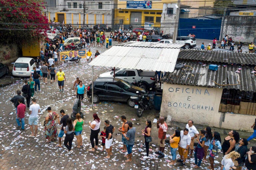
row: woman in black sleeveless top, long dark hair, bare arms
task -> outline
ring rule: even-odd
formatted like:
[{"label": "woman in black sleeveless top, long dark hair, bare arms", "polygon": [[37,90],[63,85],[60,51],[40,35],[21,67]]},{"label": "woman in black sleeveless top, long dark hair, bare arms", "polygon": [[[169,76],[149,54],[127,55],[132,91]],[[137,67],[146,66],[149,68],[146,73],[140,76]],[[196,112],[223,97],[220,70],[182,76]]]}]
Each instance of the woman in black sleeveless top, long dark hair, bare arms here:
[{"label": "woman in black sleeveless top, long dark hair, bare arms", "polygon": [[239,141],[239,133],[235,130],[228,132],[228,136],[224,138],[222,143],[223,155],[228,154],[229,152],[235,150],[235,144]]}]

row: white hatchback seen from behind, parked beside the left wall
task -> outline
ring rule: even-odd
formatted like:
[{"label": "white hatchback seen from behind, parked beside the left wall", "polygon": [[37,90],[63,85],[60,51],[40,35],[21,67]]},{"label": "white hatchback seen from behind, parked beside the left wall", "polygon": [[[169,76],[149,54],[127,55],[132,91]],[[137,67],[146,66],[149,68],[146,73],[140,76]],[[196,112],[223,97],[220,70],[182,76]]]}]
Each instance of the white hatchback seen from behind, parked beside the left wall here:
[{"label": "white hatchback seen from behind, parked beside the left wall", "polygon": [[33,58],[19,57],[12,69],[12,75],[19,77],[28,77],[33,67],[36,66],[36,61]]}]

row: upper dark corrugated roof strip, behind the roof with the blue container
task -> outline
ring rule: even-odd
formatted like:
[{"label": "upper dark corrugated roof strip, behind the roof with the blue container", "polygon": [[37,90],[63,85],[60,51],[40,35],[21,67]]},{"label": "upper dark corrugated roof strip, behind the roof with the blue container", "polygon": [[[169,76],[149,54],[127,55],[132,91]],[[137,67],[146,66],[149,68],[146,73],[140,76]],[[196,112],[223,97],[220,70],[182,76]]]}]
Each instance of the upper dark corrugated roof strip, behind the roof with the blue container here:
[{"label": "upper dark corrugated roof strip, behind the roof with the blue container", "polygon": [[182,50],[178,59],[219,62],[227,64],[244,64],[256,65],[256,54],[245,52],[223,52],[223,51],[208,51],[208,50]]}]

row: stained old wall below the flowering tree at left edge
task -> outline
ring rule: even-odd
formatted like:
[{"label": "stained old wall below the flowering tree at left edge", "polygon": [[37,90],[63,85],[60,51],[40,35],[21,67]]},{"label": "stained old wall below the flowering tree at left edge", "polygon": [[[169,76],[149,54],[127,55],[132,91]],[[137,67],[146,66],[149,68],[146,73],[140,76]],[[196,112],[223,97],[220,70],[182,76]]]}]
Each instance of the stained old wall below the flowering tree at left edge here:
[{"label": "stained old wall below the flowering tree at left edge", "polygon": [[0,62],[9,64],[14,62],[19,56],[19,48],[15,43],[3,45],[0,44]]}]

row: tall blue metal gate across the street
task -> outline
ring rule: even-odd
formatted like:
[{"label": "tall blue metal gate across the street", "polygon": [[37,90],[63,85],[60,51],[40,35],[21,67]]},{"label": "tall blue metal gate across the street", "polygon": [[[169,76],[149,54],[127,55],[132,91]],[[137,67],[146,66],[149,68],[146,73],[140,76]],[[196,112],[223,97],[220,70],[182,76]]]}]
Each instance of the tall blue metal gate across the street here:
[{"label": "tall blue metal gate across the street", "polygon": [[[194,34],[197,39],[213,40],[219,39],[221,30],[221,15],[203,15],[198,17],[185,16],[179,20],[179,36]],[[192,14],[193,15],[193,14]],[[200,15],[200,14],[197,14]]]}]

